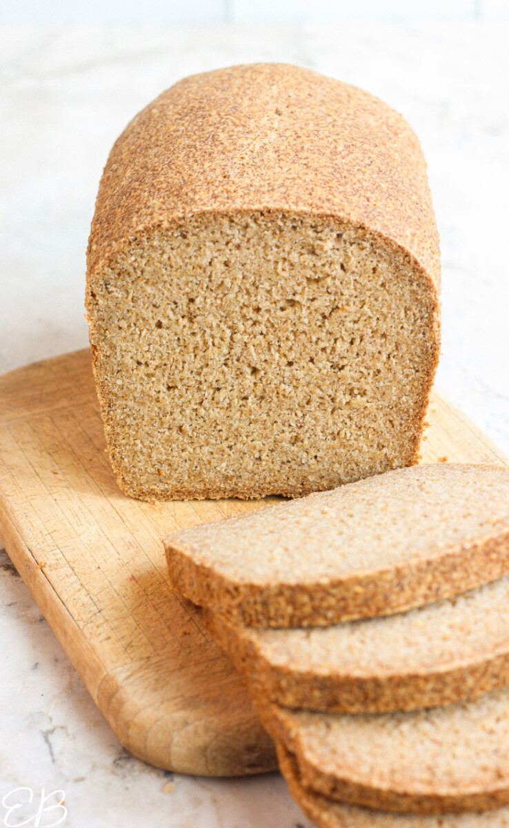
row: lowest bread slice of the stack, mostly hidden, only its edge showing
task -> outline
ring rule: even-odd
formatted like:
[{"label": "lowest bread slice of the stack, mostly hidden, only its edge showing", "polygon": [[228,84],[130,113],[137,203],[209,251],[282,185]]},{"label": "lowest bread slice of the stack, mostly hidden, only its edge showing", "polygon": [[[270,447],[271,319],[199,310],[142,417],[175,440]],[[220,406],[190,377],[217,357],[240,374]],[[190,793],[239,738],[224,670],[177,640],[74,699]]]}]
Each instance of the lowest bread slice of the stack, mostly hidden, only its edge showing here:
[{"label": "lowest bread slice of the stack, mostly hidden, only its edge showing", "polygon": [[295,757],[276,743],[281,773],[295,802],[319,828],[509,828],[509,808],[484,813],[391,814],[327,799],[302,786]]}]

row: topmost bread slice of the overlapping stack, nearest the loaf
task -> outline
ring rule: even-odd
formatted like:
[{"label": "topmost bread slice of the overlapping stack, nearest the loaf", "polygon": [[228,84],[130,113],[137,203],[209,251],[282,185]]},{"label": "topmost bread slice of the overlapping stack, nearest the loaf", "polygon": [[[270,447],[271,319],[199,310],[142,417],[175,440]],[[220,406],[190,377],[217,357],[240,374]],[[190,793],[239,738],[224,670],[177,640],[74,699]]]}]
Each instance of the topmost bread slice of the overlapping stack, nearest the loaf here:
[{"label": "topmost bread slice of the overlapping stack, nearest the loaf", "polygon": [[391,614],[509,570],[509,469],[397,469],[165,540],[170,580],[235,623]]}]

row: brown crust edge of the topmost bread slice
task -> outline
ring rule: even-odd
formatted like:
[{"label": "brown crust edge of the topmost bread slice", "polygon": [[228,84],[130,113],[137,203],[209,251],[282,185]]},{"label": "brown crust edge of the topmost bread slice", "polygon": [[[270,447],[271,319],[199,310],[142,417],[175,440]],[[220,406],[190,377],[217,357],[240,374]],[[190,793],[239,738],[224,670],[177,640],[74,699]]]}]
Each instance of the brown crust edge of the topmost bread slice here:
[{"label": "brown crust edge of the topmost bread slice", "polygon": [[459,595],[509,570],[509,531],[425,560],[305,584],[233,582],[165,541],[170,580],[194,604],[249,627],[309,627],[390,615]]}]

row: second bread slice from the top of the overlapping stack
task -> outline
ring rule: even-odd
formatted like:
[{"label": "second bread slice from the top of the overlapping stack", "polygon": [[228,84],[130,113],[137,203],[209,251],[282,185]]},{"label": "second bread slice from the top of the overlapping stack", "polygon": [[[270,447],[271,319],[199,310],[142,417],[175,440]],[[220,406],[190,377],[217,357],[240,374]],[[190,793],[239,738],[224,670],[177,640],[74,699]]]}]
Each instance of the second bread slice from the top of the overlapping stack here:
[{"label": "second bread slice from the top of the overlapping stack", "polygon": [[475,699],[509,684],[509,576],[453,599],[330,627],[204,623],[257,695],[286,707],[381,713]]}]

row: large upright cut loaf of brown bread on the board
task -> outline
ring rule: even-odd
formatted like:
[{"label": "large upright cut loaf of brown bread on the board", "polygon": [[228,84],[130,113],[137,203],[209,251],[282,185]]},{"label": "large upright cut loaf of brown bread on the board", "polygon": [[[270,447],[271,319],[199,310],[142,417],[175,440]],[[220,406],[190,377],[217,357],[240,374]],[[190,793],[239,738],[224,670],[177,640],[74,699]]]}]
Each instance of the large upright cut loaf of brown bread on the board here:
[{"label": "large upright cut loaf of brown bread on the board", "polygon": [[419,142],[291,65],[175,84],[108,158],[87,314],[137,498],[297,496],[415,463],[439,354]]}]

